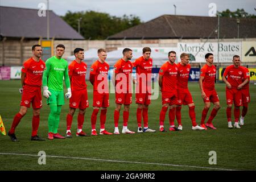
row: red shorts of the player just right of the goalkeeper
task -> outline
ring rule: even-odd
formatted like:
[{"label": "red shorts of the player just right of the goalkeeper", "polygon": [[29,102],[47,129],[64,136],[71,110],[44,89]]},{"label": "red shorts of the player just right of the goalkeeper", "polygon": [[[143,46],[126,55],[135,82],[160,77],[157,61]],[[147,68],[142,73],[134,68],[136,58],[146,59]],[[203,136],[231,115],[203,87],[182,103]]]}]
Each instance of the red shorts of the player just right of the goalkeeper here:
[{"label": "red shorts of the player just right of the goalkeeper", "polygon": [[72,91],[72,96],[69,99],[69,107],[79,109],[85,109],[89,107],[87,89]]}]

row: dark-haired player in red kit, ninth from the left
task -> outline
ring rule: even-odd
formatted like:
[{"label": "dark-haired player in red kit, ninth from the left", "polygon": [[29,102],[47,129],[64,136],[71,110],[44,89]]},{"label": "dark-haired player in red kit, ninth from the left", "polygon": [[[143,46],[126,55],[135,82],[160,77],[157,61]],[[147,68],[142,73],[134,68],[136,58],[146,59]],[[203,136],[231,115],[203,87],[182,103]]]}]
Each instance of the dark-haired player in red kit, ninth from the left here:
[{"label": "dark-haired player in red kit, ninth from the left", "polygon": [[[209,129],[215,130],[216,127],[213,126],[212,121],[216,116],[218,110],[220,109],[220,100],[218,100],[218,94],[214,88],[215,86],[215,77],[216,77],[216,67],[213,65],[213,54],[207,53],[205,56],[205,60],[207,64],[201,68],[200,74],[200,89],[201,89],[201,97],[204,100],[204,109],[202,112],[201,118],[201,127],[204,127],[207,130]],[[210,117],[205,124],[205,118],[207,117],[208,110],[210,109],[210,102],[214,104],[212,112],[210,113]]]}]

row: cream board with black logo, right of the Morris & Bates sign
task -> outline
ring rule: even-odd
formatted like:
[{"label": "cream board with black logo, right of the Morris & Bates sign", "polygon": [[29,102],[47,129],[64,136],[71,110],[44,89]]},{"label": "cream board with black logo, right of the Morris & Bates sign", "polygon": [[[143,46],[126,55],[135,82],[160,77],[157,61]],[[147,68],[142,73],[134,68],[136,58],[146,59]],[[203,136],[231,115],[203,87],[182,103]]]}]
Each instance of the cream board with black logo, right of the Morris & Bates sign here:
[{"label": "cream board with black logo, right of the Morris & Bates sign", "polygon": [[242,42],[242,62],[256,63],[256,41]]}]

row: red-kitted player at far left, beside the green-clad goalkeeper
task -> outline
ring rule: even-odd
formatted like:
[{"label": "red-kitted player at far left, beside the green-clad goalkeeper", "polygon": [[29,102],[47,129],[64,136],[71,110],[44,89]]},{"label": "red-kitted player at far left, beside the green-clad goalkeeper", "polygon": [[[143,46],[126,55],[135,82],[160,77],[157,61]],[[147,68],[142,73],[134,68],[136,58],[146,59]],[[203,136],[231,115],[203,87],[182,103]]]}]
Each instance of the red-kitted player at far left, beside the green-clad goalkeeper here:
[{"label": "red-kitted player at far left, beside the green-clad goalkeeper", "polygon": [[15,129],[20,120],[27,113],[27,109],[32,104],[32,135],[31,140],[44,140],[38,136],[38,127],[40,122],[40,108],[42,107],[41,86],[43,71],[46,69],[46,64],[41,59],[42,47],[38,44],[32,46],[33,56],[23,63],[21,82],[22,101],[20,102],[20,110],[13,119],[11,129],[8,132],[9,137],[13,142],[17,141]]}]

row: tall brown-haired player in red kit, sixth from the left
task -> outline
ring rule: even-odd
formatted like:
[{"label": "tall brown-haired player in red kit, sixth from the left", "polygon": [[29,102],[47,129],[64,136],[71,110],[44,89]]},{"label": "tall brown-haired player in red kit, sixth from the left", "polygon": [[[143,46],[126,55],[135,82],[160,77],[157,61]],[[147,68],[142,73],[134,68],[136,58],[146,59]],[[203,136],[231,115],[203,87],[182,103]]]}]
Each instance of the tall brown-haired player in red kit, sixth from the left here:
[{"label": "tall brown-haired player in red kit, sixth from the left", "polygon": [[[153,60],[151,59],[151,49],[144,47],[142,49],[142,56],[133,62],[136,67],[136,104],[137,108],[137,123],[138,133],[155,132],[148,127],[148,105],[151,103],[151,75]],[[141,114],[142,113],[142,114]],[[142,116],[141,116],[142,115]],[[144,127],[141,127],[143,117]]]}]

